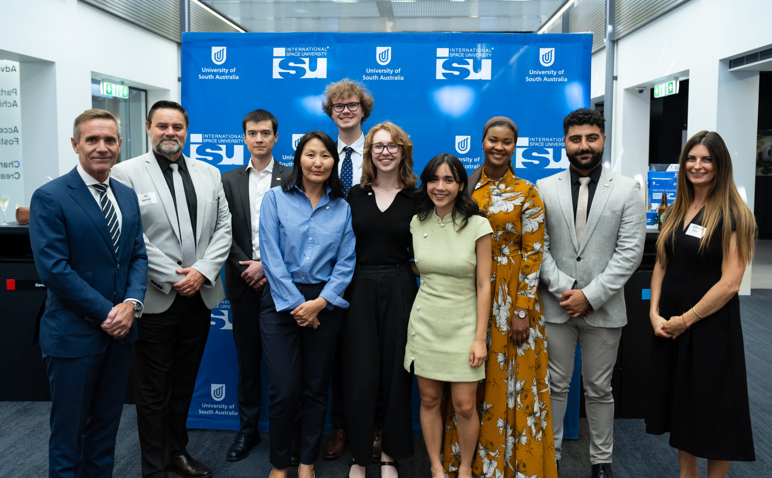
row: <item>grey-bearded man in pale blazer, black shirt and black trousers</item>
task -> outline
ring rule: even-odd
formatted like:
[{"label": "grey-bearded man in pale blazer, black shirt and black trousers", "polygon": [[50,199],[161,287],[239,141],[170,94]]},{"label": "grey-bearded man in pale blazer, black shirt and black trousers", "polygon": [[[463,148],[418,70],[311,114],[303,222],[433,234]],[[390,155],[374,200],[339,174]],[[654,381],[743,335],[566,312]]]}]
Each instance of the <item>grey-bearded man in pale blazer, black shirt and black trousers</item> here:
[{"label": "grey-bearded man in pale blazer, black shirt and black trousers", "polygon": [[112,169],[139,198],[149,262],[134,344],[142,476],[206,478],[212,471],[185,449],[186,422],[211,309],[225,298],[220,270],[231,249],[231,214],[220,171],[182,154],[185,108],[158,101],[145,127],[153,151]]}]

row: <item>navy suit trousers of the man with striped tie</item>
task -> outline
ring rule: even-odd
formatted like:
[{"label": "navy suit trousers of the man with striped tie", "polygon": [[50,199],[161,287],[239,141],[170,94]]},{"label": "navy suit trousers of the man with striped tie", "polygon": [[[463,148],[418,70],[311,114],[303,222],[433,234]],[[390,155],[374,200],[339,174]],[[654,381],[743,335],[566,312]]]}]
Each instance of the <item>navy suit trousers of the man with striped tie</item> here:
[{"label": "navy suit trousers of the man with striped tie", "polygon": [[43,354],[51,383],[49,478],[110,478],[131,344],[79,358]]}]

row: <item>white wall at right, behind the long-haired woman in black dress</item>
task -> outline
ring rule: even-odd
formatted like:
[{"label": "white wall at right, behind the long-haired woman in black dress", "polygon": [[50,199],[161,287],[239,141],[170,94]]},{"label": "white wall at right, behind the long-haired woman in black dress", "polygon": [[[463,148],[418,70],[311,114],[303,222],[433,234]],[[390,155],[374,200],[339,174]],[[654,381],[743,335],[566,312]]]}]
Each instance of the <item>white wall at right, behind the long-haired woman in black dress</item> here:
[{"label": "white wall at right, behind the long-haired woman in black dress", "polygon": [[[726,60],[772,45],[770,12],[769,0],[733,0],[731,5],[690,0],[617,42],[615,171],[645,178],[648,168],[650,93],[638,95],[635,87],[689,76],[688,134],[721,134],[732,154],[736,185],[753,209],[759,73],[730,72]],[[605,49],[593,55],[592,97],[604,94],[604,61]],[[750,267],[740,293],[750,293]]]}]

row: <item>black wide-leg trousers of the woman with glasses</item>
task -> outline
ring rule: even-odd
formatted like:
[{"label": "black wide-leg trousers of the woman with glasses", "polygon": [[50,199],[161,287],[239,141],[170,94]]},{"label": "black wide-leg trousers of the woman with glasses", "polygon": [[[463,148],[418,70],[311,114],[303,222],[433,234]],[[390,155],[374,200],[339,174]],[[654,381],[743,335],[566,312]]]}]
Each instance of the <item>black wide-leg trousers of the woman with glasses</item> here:
[{"label": "black wide-leg trousers of the woman with glasses", "polygon": [[344,314],[344,403],[351,455],[371,463],[373,428],[383,429],[383,451],[394,459],[413,454],[411,389],[405,371],[410,310],[418,293],[407,264],[357,266],[346,290]]}]

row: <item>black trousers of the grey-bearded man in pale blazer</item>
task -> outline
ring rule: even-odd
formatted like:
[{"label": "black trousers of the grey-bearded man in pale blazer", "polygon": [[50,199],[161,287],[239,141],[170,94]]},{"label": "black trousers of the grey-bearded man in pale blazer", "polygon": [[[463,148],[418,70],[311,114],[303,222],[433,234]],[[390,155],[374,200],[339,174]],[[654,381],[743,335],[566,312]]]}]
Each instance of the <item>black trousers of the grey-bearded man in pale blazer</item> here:
[{"label": "black trousers of the grey-bearded man in pale blazer", "polygon": [[169,458],[188,446],[185,424],[211,314],[201,293],[178,294],[165,312],[143,314],[137,320],[134,398],[142,476],[166,476]]}]

